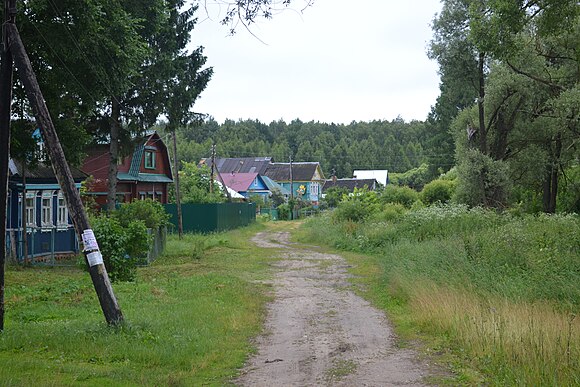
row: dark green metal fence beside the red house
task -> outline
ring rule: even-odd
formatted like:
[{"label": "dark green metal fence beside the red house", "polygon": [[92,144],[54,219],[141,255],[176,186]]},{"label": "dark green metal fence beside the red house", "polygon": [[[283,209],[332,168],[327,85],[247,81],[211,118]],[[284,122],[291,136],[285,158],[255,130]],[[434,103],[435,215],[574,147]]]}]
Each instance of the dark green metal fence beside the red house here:
[{"label": "dark green metal fence beside the red house", "polygon": [[[177,208],[175,204],[165,204],[169,220],[177,229]],[[247,226],[256,220],[254,203],[208,203],[182,204],[183,231],[208,233]]]}]

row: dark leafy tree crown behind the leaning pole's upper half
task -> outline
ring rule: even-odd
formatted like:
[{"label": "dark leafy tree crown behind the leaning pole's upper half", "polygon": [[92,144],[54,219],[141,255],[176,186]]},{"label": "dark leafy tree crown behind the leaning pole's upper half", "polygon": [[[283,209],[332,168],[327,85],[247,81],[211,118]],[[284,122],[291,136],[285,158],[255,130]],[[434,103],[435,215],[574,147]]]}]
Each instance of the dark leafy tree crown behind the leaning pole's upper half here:
[{"label": "dark leafy tree crown behind the leaning pole's upper half", "polygon": [[[112,95],[130,88],[147,55],[139,35],[142,19],[124,3],[64,0],[56,6],[27,1],[18,7],[22,40],[67,160],[73,164],[81,161],[91,140],[87,132],[95,128],[95,112],[102,111]],[[17,115],[34,117],[25,94],[18,90]]]}]

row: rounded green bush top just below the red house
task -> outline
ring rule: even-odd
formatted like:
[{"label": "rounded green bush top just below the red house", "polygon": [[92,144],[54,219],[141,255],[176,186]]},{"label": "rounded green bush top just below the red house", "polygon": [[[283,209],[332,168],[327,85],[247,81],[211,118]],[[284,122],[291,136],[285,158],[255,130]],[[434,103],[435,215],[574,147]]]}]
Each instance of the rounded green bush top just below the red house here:
[{"label": "rounded green bush top just below the red house", "polygon": [[123,227],[135,220],[141,220],[147,228],[158,229],[169,224],[169,214],[161,203],[152,200],[134,200],[130,203],[123,203],[111,214]]}]

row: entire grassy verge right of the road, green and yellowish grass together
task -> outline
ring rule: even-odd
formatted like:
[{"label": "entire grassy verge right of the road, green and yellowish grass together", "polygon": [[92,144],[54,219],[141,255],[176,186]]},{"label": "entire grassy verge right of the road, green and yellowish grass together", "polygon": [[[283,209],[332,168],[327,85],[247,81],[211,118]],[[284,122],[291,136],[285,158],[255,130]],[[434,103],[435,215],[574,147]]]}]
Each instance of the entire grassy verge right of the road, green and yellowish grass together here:
[{"label": "entire grassy verge right of the road, green and yellowish grass together", "polygon": [[387,207],[311,219],[298,237],[357,252],[345,256],[366,296],[403,339],[447,356],[457,383],[580,385],[578,216]]}]

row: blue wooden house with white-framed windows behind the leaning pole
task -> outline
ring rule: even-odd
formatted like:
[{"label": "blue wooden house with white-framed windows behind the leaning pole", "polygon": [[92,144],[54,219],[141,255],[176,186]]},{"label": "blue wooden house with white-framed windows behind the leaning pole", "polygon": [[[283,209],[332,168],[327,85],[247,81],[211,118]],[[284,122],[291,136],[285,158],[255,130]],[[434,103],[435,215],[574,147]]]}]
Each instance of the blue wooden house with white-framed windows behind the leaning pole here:
[{"label": "blue wooden house with white-framed windows behind the leaning pole", "polygon": [[[71,172],[80,188],[86,175],[75,168]],[[54,264],[79,252],[64,196],[50,166],[23,168],[10,160],[6,229],[7,253],[19,262]]]}]

